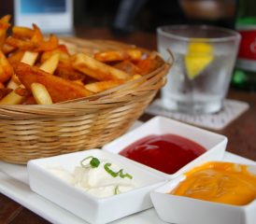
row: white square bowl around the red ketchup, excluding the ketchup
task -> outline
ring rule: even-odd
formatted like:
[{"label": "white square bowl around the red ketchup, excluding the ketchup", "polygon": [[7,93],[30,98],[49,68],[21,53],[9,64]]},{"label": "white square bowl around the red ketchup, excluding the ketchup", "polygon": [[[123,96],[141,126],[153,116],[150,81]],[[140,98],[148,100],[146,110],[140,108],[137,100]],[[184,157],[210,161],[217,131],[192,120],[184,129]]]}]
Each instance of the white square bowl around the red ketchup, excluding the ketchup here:
[{"label": "white square bowl around the red ketchup, excluding the ketchup", "polygon": [[187,165],[180,168],[176,173],[172,175],[165,174],[164,172],[153,169],[147,165],[139,163],[137,161],[132,161],[136,165],[148,169],[156,175],[163,176],[166,179],[174,178],[190,169],[192,167],[201,164],[205,161],[220,161],[224,156],[224,152],[227,145],[227,138],[218,133],[211,133],[206,130],[196,128],[192,125],[178,122],[173,119],[166,119],[164,117],[154,117],[149,121],[142,124],[140,127],[131,131],[130,133],[125,133],[116,140],[108,143],[103,150],[107,150],[112,153],[119,154],[122,149],[130,146],[136,140],[146,137],[151,134],[165,134],[172,133],[179,136],[188,138],[193,142],[206,148],[206,152],[197,157],[195,160],[189,162]]}]

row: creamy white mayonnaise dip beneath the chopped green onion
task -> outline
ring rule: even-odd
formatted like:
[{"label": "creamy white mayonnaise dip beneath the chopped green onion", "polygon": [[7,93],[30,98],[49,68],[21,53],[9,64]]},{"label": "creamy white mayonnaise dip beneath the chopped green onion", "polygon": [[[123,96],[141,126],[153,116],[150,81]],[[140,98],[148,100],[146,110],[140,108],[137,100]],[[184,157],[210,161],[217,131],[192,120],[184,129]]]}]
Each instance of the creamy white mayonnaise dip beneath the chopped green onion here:
[{"label": "creamy white mayonnaise dip beneath the chopped green onion", "polygon": [[[113,177],[105,169],[108,161],[100,161],[98,167],[92,168],[90,160],[83,162],[86,167],[76,166],[73,173],[68,172],[63,167],[51,166],[48,168],[51,174],[58,176],[67,183],[82,189],[97,198],[105,198],[120,194],[122,192],[135,189],[135,181],[133,178],[121,177],[120,175]],[[118,173],[121,168],[112,161],[109,169]],[[125,170],[123,174],[126,174]],[[131,174],[129,174],[131,175]]]}]

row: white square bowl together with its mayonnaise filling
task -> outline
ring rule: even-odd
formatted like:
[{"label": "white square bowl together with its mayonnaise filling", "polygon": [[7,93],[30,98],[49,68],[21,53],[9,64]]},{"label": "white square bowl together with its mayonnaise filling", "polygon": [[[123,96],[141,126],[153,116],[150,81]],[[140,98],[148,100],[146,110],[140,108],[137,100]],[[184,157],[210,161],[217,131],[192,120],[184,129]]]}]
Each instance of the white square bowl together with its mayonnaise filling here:
[{"label": "white square bowl together with its mayonnaise filling", "polygon": [[[101,161],[103,168],[99,166],[99,170],[89,171],[92,174],[80,168],[75,171],[80,161],[89,156]],[[106,162],[111,163],[107,168],[114,173],[123,169],[122,175],[132,175],[133,178],[113,180],[105,173]],[[126,158],[100,149],[29,161],[28,175],[30,188],[37,194],[96,224],[114,221],[152,207],[150,190],[166,182],[163,177],[138,167]],[[76,184],[78,187],[74,186]],[[91,188],[87,189],[89,185]],[[121,193],[105,197],[109,193],[113,194],[116,185],[121,186],[116,189]],[[132,186],[134,189],[131,189]]]}]

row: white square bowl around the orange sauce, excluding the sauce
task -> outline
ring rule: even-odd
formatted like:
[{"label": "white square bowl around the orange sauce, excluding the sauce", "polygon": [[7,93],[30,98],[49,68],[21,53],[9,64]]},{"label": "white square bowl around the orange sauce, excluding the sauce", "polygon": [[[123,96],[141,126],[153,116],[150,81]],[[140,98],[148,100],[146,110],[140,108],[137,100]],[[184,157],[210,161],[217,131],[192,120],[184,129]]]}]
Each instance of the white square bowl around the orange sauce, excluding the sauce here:
[{"label": "white square bowl around the orange sauce, excluding the sauce", "polygon": [[[256,166],[248,165],[249,172],[256,175]],[[203,200],[168,194],[175,189],[184,175],[170,180],[164,186],[150,193],[152,203],[159,217],[177,224],[255,224],[256,200],[237,206],[212,203]]]}]

